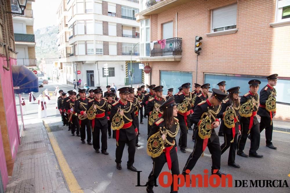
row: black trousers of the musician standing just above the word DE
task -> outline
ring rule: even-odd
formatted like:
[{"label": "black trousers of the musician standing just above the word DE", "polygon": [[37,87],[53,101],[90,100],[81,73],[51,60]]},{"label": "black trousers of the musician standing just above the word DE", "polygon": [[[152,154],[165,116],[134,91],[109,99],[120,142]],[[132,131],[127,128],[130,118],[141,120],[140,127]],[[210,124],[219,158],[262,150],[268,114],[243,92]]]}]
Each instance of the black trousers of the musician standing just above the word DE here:
[{"label": "black trousers of the musician standing just above the word DE", "polygon": [[231,140],[233,139],[233,134],[226,134],[224,133],[224,143],[220,146],[222,150],[222,154],[230,148],[229,151],[229,158],[228,158],[228,164],[235,163],[235,151],[237,149],[237,139],[238,134],[235,134],[235,138],[233,143],[231,143]]}]

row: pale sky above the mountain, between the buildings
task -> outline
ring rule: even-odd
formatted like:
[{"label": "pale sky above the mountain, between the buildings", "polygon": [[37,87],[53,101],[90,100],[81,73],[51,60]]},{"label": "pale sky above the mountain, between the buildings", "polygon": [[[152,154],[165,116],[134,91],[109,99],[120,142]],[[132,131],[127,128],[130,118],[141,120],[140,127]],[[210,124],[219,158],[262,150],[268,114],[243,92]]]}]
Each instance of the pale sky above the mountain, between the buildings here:
[{"label": "pale sky above the mountain, between the buildings", "polygon": [[61,0],[35,0],[32,2],[34,30],[57,25],[57,8]]}]

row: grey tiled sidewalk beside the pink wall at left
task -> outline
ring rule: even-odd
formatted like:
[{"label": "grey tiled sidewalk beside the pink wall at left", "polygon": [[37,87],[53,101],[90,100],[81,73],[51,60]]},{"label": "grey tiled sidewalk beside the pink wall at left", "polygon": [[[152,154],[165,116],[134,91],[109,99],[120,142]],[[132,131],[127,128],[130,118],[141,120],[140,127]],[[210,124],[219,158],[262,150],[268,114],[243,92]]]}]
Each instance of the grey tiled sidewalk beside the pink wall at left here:
[{"label": "grey tiled sidewalk beside the pink wall at left", "polygon": [[26,125],[6,192],[68,192],[43,123]]}]

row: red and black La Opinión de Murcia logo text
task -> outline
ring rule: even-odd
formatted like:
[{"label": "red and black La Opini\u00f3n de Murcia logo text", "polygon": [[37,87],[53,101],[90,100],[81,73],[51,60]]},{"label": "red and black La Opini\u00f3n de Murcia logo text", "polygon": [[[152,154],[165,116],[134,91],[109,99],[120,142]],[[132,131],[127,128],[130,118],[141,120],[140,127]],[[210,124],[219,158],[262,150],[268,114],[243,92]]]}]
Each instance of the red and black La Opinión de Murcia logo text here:
[{"label": "red and black La Opini\u00f3n de Murcia logo text", "polygon": [[[185,170],[186,175],[179,174],[176,175],[170,172],[161,172],[158,177],[158,182],[161,187],[168,188],[173,183],[173,191],[178,191],[178,188],[207,188],[207,187],[222,187],[222,188],[232,188],[233,187],[233,177],[231,174],[222,175],[219,177],[215,174],[218,170],[213,170],[214,174],[209,175],[209,170],[205,169],[204,174],[189,174],[190,170]],[[142,171],[137,171],[137,185],[136,186],[147,186],[148,182],[145,185],[140,184],[140,173]],[[167,182],[164,182],[164,178],[167,179]],[[190,182],[191,181],[191,182]],[[197,183],[197,186],[196,186]],[[289,187],[287,180],[234,180],[234,187],[249,187],[249,188],[283,188]],[[154,179],[154,186],[157,187],[157,179]]]}]

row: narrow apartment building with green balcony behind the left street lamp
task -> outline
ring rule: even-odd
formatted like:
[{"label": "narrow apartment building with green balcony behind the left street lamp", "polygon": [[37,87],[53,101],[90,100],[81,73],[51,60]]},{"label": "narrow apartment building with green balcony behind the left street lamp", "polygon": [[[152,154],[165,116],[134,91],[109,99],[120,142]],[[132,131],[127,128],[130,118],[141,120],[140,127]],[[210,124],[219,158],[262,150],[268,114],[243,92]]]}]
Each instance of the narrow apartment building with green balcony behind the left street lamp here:
[{"label": "narrow apartment building with green balcony behind the left street lamp", "polygon": [[25,65],[28,68],[37,68],[35,56],[35,36],[33,32],[33,11],[29,0],[24,10],[24,15],[12,17],[14,38],[17,54],[17,65]]}]

